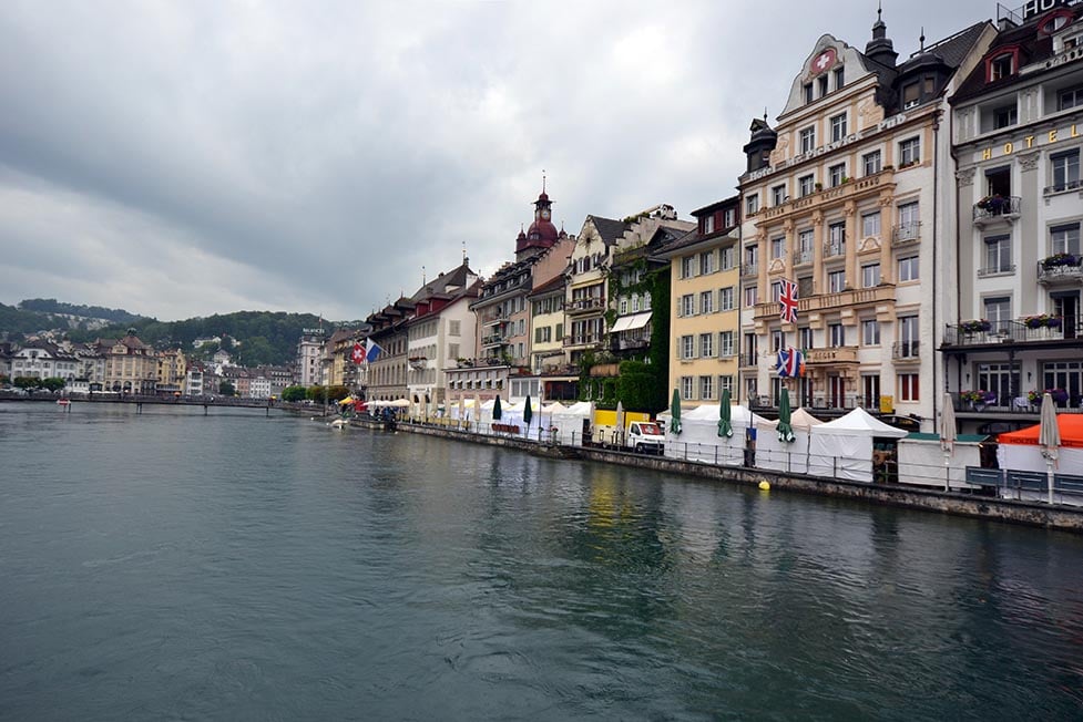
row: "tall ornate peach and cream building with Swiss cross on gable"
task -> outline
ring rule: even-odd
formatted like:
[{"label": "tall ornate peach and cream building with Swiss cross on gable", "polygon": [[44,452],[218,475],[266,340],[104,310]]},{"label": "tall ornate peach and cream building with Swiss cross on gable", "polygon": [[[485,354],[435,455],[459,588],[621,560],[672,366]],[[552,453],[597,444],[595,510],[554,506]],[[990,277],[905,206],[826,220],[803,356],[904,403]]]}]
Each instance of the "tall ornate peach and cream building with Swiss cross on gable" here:
[{"label": "tall ornate peach and cream building with Swiss cross on gable", "polygon": [[[777,405],[777,353],[794,348],[806,362],[786,382],[797,404],[824,416],[861,406],[934,430],[938,258],[954,236],[944,97],[994,32],[978,23],[931,45],[922,38],[901,63],[879,18],[865,52],[826,34],[777,125],[753,122],[739,179],[750,405]],[[779,319],[783,281],[797,285],[796,323]]]}]

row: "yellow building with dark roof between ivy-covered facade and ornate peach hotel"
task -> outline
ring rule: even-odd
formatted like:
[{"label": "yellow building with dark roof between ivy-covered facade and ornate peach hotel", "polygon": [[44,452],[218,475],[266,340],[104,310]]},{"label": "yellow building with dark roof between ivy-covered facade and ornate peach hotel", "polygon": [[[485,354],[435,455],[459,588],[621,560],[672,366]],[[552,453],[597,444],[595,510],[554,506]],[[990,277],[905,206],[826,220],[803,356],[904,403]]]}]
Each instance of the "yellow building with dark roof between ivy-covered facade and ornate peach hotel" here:
[{"label": "yellow building with dark roof between ivy-covered facade and ornate peach hotel", "polygon": [[697,226],[657,258],[670,261],[670,388],[688,406],[735,396],[740,318],[739,199],[692,214]]}]

